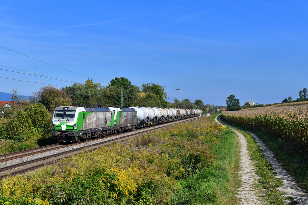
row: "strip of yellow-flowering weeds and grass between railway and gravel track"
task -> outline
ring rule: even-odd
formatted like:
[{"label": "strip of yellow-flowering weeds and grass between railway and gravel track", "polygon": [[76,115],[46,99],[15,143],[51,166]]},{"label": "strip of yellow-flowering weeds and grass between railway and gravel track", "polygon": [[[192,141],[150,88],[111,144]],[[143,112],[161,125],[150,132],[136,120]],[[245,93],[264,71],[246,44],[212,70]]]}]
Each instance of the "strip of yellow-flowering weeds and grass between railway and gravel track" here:
[{"label": "strip of yellow-flowering weeds and grass between railway and gravel track", "polygon": [[210,119],[172,125],[1,181],[8,204],[237,204],[234,132]]}]

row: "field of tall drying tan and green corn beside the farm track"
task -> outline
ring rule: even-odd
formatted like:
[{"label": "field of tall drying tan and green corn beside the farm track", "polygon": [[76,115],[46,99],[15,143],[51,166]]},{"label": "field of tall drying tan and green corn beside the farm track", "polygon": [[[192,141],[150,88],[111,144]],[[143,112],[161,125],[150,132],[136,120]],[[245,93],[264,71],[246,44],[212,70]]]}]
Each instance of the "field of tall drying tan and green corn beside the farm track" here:
[{"label": "field of tall drying tan and green corn beside the farm track", "polygon": [[288,104],[223,112],[231,123],[269,132],[305,150],[308,148],[308,104]]}]

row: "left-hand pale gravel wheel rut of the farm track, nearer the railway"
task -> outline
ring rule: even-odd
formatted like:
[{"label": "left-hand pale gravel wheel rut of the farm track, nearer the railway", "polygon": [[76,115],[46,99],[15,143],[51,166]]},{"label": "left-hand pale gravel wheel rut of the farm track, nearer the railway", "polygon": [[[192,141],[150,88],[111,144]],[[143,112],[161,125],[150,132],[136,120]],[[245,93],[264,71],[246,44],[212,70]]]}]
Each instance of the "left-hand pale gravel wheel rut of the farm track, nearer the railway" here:
[{"label": "left-hand pale gravel wheel rut of the farm track, nearer the railway", "polygon": [[[215,121],[219,123],[217,121],[217,117]],[[247,141],[245,139],[245,136],[242,135],[240,132],[237,131],[234,132],[237,134],[241,146],[239,178],[242,181],[242,187],[240,187],[238,191],[238,198],[240,199],[240,204],[243,205],[262,204],[260,198],[258,197],[257,191],[254,187],[254,184],[256,183],[258,176],[254,171],[253,163],[251,162],[249,157]]]}]

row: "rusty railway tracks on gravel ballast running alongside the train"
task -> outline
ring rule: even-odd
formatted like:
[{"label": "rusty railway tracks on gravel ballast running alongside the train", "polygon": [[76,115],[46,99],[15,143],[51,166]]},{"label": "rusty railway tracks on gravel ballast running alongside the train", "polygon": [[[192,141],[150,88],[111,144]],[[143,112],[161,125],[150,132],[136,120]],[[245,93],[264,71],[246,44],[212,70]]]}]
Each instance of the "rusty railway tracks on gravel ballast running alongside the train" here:
[{"label": "rusty railway tracks on gravel ballast running alongside the train", "polygon": [[[197,116],[197,117],[181,120],[181,122],[189,122],[189,121],[200,119],[202,117],[205,117],[205,116]],[[75,148],[75,149],[71,149],[71,150],[67,150],[67,151],[64,151],[64,152],[59,152],[59,153],[56,153],[56,154],[43,156],[43,157],[39,157],[39,158],[36,158],[36,159],[28,160],[28,161],[25,161],[25,162],[21,162],[21,163],[12,164],[12,165],[9,165],[9,166],[6,166],[6,167],[2,167],[2,168],[0,168],[0,180],[7,177],[8,175],[17,175],[17,174],[25,173],[27,171],[35,170],[39,167],[43,167],[43,166],[48,165],[50,162],[69,157],[73,154],[78,154],[84,148],[87,148],[89,150],[89,152],[92,152],[92,151],[102,147],[103,145],[109,144],[112,141],[115,141],[115,140],[122,141],[122,140],[128,139],[132,136],[137,136],[137,135],[149,132],[149,131],[154,131],[156,129],[168,127],[168,126],[175,124],[175,123],[177,123],[177,121],[176,122],[170,122],[168,124],[157,125],[157,126],[154,126],[154,127],[147,127],[147,128],[144,128],[143,130],[139,129],[139,130],[133,131],[133,133],[131,133],[131,134],[123,133],[123,134],[121,134],[122,136],[118,136],[118,137],[115,137],[115,135],[113,135],[113,137],[115,137],[115,138],[112,138],[112,139],[108,139],[108,138],[111,137],[111,136],[109,136],[107,138],[103,138],[104,141],[100,141],[98,143],[89,144],[89,145],[86,145],[86,146],[82,145],[82,146]],[[102,140],[102,139],[99,139],[99,140]],[[87,140],[84,143],[91,142],[91,141],[95,141],[95,139],[94,140]],[[73,145],[76,145],[76,144],[79,144],[79,143],[63,145],[63,146],[68,147],[68,146],[73,146]],[[56,146],[56,144],[53,144],[53,145]],[[51,147],[51,146],[52,145],[49,145],[49,147]],[[63,148],[63,146],[61,146],[61,147],[58,146],[58,147],[53,147],[53,148],[48,148],[47,146],[45,146],[44,150],[40,150],[40,151],[34,150],[34,152],[36,152],[36,154],[42,153],[42,152],[47,152],[47,151],[50,151],[50,150]],[[43,147],[41,147],[41,148],[43,148]],[[25,151],[29,151],[29,150],[25,150]],[[31,149],[31,151],[33,151],[33,150]],[[14,152],[12,152],[12,153],[14,153]],[[22,153],[22,151],[20,151],[19,153]],[[19,153],[16,153],[16,154],[19,154]],[[11,154],[11,153],[9,153],[9,154]],[[14,156],[14,157],[18,158],[18,157],[28,156],[28,154],[29,153],[26,153],[24,155],[21,154],[21,155]],[[34,154],[32,154],[32,155],[34,155]],[[0,155],[0,157],[1,157],[1,155]],[[16,158],[14,158],[14,159],[16,159]],[[8,159],[8,158],[6,158],[6,159]]]}]

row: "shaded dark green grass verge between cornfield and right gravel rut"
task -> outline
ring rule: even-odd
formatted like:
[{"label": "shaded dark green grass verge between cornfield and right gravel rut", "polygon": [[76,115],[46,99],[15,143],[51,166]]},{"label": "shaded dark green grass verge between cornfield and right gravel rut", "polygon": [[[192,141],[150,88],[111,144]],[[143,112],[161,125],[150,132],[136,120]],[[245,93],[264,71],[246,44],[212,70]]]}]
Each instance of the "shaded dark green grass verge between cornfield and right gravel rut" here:
[{"label": "shaded dark green grass verge between cornfield and right gravel rut", "polygon": [[[225,122],[231,124],[229,122]],[[298,185],[308,193],[308,155],[306,153],[298,152],[288,141],[277,138],[265,132],[252,130],[243,126],[232,124],[232,126],[239,129],[253,132],[256,134],[266,146],[275,154],[281,165],[294,176]]]}]

